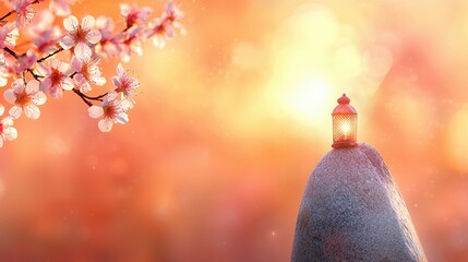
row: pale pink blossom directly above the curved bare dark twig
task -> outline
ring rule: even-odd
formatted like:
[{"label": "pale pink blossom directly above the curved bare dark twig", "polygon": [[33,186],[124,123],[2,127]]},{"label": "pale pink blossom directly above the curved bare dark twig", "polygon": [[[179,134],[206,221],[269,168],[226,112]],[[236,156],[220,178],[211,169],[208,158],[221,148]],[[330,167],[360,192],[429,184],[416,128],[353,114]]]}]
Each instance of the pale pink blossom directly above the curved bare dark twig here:
[{"label": "pale pink blossom directly above the curved bare dark twig", "polygon": [[106,79],[101,76],[98,63],[99,57],[88,57],[85,53],[77,53],[72,58],[72,68],[76,72],[73,78],[80,86],[82,93],[87,93],[92,90],[91,85],[104,85]]}]

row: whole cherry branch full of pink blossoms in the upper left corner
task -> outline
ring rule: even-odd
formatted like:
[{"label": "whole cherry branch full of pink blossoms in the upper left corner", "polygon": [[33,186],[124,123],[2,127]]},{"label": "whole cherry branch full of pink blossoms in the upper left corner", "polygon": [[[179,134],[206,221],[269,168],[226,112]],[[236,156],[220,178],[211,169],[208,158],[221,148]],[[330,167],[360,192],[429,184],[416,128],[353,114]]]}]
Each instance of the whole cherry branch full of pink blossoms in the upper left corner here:
[{"label": "whole cherry branch full of pink blossoms in the upper left corner", "polygon": [[[130,61],[134,53],[142,56],[146,40],[163,47],[176,31],[184,32],[180,23],[183,12],[172,2],[149,23],[152,8],[134,4],[119,5],[120,21],[85,15],[80,22],[70,8],[76,0],[0,2],[8,9],[0,14],[0,87],[11,83],[3,92],[3,99],[11,105],[3,118],[5,108],[0,105],[0,147],[17,136],[13,120],[23,111],[29,119],[39,118],[38,106],[48,96],[76,95],[88,106],[88,115],[99,119],[103,132],[109,132],[115,123],[128,122],[127,112],[136,104],[140,83],[121,62]],[[67,17],[60,22],[58,16]],[[21,44],[16,46],[17,39]],[[99,69],[107,58],[119,60],[112,84],[107,84]]]}]

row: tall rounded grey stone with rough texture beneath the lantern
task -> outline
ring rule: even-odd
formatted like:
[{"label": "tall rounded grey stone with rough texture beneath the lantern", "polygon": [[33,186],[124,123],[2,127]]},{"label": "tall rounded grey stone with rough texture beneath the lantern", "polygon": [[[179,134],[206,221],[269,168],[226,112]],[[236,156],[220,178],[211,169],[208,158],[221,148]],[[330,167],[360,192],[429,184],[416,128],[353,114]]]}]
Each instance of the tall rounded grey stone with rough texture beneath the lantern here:
[{"label": "tall rounded grey stone with rough texture beneath the lantern", "polygon": [[374,148],[332,150],[319,163],[302,198],[291,261],[427,261]]}]

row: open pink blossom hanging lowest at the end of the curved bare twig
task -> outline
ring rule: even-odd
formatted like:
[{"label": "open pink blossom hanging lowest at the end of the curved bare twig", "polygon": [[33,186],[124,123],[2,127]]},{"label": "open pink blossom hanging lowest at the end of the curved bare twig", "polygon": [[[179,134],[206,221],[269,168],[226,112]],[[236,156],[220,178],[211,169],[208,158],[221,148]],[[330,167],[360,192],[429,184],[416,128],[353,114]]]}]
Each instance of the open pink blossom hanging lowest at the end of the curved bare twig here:
[{"label": "open pink blossom hanging lowest at the end of the curved bare twig", "polygon": [[129,121],[127,100],[118,100],[117,98],[118,94],[116,92],[109,92],[100,106],[92,106],[87,109],[89,117],[94,119],[100,118],[97,126],[101,132],[109,132],[113,123],[123,124]]}]

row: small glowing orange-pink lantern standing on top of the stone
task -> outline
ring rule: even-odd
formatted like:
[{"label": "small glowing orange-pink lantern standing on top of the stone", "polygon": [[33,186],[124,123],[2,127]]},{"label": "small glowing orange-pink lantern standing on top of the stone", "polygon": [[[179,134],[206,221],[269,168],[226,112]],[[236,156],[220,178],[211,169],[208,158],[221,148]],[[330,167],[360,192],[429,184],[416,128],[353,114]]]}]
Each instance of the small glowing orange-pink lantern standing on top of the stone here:
[{"label": "small glowing orange-pink lantern standing on top of the stone", "polygon": [[334,148],[353,147],[358,143],[358,112],[349,105],[350,99],[343,94],[338,106],[332,112]]}]

